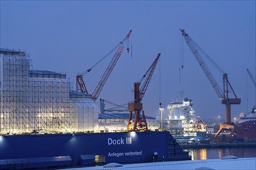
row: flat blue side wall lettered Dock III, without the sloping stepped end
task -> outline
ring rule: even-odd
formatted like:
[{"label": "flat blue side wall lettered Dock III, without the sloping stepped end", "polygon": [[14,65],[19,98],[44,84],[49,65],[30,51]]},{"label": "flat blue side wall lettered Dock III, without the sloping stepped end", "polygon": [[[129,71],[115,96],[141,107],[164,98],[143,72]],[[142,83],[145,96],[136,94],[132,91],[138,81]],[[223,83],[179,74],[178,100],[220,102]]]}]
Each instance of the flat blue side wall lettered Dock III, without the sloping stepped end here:
[{"label": "flat blue side wall lettered Dock III, without the sloping stepped end", "polygon": [[[94,155],[104,162],[152,162],[168,158],[168,132],[120,132],[92,134],[22,134],[0,136],[0,160],[71,157],[71,165]],[[94,157],[93,157],[94,158]],[[156,160],[157,161],[157,160]]]}]

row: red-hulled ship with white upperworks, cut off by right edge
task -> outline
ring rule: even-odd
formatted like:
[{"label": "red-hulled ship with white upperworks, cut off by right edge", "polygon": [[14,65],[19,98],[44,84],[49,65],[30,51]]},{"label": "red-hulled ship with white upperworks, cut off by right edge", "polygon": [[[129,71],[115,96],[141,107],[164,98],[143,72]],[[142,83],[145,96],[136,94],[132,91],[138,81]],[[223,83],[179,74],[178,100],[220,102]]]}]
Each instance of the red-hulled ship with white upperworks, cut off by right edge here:
[{"label": "red-hulled ship with white upperworks, cut off by right edge", "polygon": [[240,113],[234,119],[234,131],[230,134],[234,140],[256,141],[256,106],[251,112]]}]

